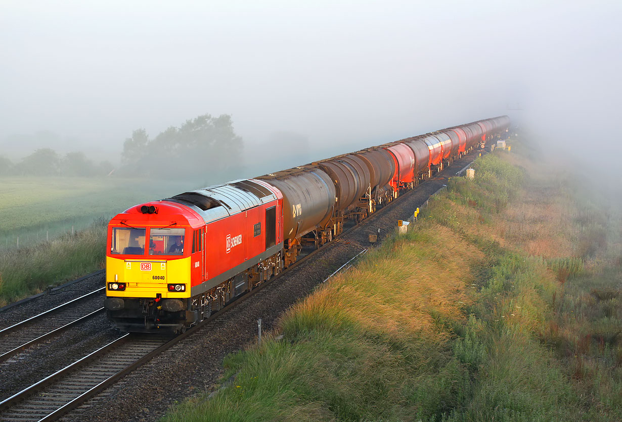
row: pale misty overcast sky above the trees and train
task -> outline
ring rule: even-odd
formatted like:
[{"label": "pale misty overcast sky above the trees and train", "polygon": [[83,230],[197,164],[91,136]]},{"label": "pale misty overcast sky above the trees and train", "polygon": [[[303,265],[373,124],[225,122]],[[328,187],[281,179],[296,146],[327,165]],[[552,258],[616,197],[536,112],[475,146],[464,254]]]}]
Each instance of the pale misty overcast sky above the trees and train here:
[{"label": "pale misty overcast sky above the trees and train", "polygon": [[0,5],[0,138],[121,148],[209,113],[246,143],[285,131],[338,153],[508,114],[622,153],[620,1]]}]

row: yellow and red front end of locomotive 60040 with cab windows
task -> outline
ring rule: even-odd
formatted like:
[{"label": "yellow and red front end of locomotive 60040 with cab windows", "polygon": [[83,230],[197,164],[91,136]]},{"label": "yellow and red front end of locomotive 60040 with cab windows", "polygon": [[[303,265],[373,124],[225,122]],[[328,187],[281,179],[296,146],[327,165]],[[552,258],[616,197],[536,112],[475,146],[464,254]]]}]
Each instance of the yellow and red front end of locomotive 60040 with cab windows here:
[{"label": "yellow and red front end of locomotive 60040 with cab windows", "polygon": [[121,331],[179,332],[195,319],[193,222],[179,212],[177,204],[139,205],[109,223],[104,307]]}]

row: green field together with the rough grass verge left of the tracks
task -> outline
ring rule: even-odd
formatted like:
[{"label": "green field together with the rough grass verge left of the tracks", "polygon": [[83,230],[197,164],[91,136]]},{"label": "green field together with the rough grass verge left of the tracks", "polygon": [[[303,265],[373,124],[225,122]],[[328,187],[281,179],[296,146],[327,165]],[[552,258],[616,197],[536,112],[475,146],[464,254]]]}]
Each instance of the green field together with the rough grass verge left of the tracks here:
[{"label": "green field together with the rough grass verge left of the tracks", "polygon": [[101,269],[109,218],[163,191],[175,192],[132,179],[2,177],[0,306]]}]

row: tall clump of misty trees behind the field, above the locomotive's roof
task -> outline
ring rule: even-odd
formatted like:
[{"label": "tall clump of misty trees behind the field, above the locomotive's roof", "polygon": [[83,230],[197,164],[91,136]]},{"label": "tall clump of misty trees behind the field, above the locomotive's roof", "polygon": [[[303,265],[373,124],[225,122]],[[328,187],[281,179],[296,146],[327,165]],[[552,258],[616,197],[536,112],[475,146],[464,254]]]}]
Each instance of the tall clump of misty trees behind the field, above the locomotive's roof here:
[{"label": "tall clump of misty trees behind the field, above the locomotive's roof", "polygon": [[241,150],[242,138],[235,134],[230,115],[204,114],[152,140],[144,129],[134,130],[123,145],[124,173],[163,178],[228,175],[239,165]]}]

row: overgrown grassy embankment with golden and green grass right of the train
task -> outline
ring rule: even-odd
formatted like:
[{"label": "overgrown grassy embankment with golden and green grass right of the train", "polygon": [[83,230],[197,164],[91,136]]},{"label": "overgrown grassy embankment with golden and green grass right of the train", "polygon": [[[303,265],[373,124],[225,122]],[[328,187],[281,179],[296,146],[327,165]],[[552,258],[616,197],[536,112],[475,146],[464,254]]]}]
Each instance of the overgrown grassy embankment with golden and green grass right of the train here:
[{"label": "overgrown grassy embankment with golden and green grass right of the train", "polygon": [[164,420],[622,420],[620,216],[515,164],[452,179]]}]

